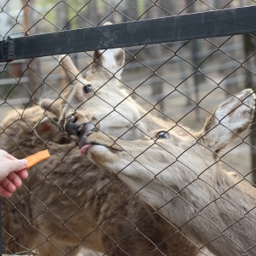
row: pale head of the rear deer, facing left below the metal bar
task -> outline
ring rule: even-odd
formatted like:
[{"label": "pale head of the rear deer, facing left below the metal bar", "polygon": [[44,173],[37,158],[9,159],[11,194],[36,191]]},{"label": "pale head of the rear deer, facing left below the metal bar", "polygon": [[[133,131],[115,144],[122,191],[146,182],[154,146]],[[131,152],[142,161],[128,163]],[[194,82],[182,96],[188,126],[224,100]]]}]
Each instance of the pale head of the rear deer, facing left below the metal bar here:
[{"label": "pale head of the rear deer, facing left below the metal bar", "polygon": [[[61,125],[74,139],[93,129],[125,139],[141,137],[143,125],[137,123],[140,114],[131,99],[132,91],[124,90],[120,83],[124,61],[123,49],[96,50],[83,78],[70,57],[61,55],[60,63],[68,86],[57,102],[46,99],[40,103],[48,113],[55,106],[54,112],[59,119],[56,122],[46,117],[36,128],[38,134],[57,143],[67,143],[67,136],[60,133]],[[61,134],[62,138],[56,134]]]}]

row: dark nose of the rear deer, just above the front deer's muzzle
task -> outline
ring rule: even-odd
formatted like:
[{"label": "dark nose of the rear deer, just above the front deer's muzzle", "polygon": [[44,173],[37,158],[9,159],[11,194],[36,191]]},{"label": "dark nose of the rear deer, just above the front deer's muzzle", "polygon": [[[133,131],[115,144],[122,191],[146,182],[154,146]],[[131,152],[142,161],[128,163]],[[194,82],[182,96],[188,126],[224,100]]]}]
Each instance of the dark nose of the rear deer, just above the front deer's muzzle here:
[{"label": "dark nose of the rear deer, just above the front deer's muzzle", "polygon": [[74,115],[71,115],[67,119],[67,123],[64,127],[64,130],[67,132],[68,135],[78,136],[81,137],[87,132],[93,130],[95,125],[90,122],[79,122],[78,119]]}]

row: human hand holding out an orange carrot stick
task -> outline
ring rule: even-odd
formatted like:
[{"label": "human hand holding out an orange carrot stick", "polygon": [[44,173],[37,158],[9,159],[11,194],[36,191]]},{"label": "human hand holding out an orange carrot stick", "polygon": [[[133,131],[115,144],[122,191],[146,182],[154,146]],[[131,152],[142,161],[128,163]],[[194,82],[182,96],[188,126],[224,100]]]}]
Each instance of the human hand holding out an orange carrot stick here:
[{"label": "human hand holding out an orange carrot stick", "polygon": [[0,149],[0,196],[10,197],[21,185],[21,178],[28,176],[27,161],[17,160],[11,154]]}]

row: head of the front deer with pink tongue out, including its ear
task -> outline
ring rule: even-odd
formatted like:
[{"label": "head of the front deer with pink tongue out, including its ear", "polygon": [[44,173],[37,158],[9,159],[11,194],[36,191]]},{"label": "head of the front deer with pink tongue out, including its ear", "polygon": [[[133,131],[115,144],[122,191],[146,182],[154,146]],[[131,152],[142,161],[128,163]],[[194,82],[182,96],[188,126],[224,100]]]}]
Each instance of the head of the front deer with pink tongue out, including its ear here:
[{"label": "head of the front deer with pink tongue out, including its ear", "polygon": [[[137,168],[131,170],[129,177],[134,175],[133,178],[137,181],[137,175],[142,173],[137,169],[143,168],[149,177],[145,181],[147,176],[143,176],[143,184],[148,183],[151,177],[161,176],[167,169],[180,165],[197,177],[207,168],[211,168],[222,148],[247,129],[253,119],[254,103],[253,90],[242,90],[218,106],[201,132],[189,131],[186,136],[177,135],[172,130],[159,130],[151,131],[147,137],[130,142],[89,132],[79,141],[80,153],[86,154],[103,169],[119,175],[135,165]],[[170,174],[167,175],[169,176]]]}]

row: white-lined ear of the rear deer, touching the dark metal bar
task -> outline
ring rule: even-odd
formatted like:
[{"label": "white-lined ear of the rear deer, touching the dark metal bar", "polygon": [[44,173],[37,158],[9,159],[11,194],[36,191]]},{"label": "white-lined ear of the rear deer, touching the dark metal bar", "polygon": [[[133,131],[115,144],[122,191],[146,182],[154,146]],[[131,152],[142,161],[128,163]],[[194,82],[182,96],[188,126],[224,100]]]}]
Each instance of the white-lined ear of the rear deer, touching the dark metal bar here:
[{"label": "white-lined ear of the rear deer, touching the dark metal bar", "polygon": [[[117,79],[121,79],[125,63],[124,49],[96,50],[93,59],[94,62],[90,67],[90,73],[102,73],[108,79],[111,79],[114,75]],[[88,76],[90,76],[90,73]]]}]

